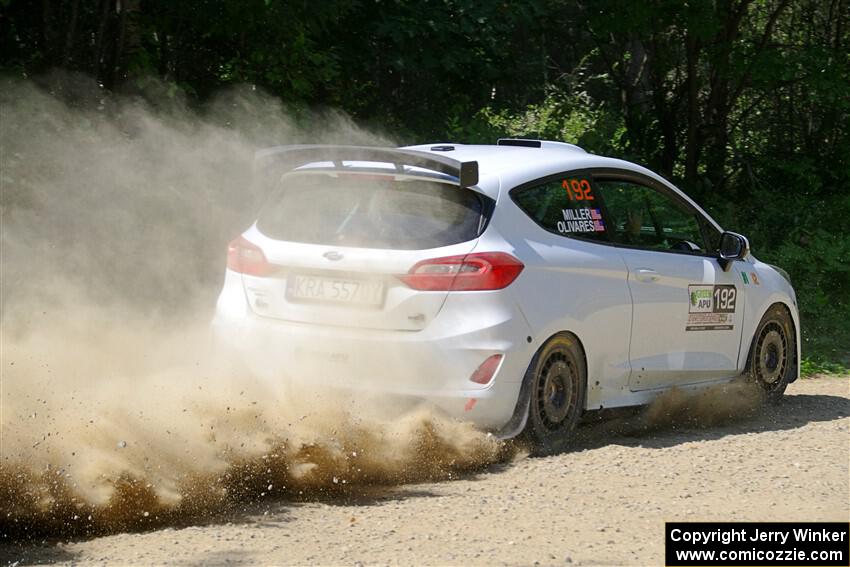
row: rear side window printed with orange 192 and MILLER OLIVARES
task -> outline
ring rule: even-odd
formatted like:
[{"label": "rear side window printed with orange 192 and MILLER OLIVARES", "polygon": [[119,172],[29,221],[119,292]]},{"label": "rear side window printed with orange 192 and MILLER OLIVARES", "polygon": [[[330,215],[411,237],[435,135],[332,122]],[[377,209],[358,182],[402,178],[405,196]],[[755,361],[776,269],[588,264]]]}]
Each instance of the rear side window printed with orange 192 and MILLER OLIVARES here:
[{"label": "rear side window printed with orange 192 and MILLER OLIVARES", "polygon": [[514,202],[537,224],[555,234],[607,242],[601,199],[584,175],[550,178],[511,193]]}]

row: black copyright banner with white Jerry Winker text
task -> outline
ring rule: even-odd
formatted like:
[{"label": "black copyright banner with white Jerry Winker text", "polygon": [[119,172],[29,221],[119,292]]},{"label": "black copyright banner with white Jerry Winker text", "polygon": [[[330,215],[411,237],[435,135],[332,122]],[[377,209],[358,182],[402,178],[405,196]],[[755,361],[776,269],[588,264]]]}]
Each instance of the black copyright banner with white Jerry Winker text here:
[{"label": "black copyright banner with white Jerry Winker text", "polygon": [[668,522],[668,567],[850,566],[846,522]]}]

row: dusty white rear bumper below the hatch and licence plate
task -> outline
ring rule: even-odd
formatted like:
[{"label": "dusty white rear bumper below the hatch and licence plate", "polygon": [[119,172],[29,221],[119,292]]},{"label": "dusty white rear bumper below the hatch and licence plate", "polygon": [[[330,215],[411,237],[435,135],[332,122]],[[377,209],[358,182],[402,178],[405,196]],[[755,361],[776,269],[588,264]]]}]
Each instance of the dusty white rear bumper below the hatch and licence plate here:
[{"label": "dusty white rear bumper below the hatch and licence plate", "polygon": [[[522,314],[501,292],[452,293],[422,331],[385,331],[293,323],[247,309],[241,289],[225,290],[212,327],[264,380],[425,402],[487,430],[502,428],[517,404],[533,352]],[[240,286],[241,288],[241,286]],[[487,385],[469,380],[493,354],[501,364]],[[402,402],[403,403],[403,402]]]}]

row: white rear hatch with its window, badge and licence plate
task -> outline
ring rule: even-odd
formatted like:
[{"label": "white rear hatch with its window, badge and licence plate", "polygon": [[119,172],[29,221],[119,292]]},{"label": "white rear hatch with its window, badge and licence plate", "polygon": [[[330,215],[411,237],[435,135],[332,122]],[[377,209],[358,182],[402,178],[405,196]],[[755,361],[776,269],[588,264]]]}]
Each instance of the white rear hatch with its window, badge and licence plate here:
[{"label": "white rear hatch with its window, badge and licence plate", "polygon": [[488,197],[438,179],[297,171],[236,241],[237,254],[257,262],[240,270],[248,302],[285,321],[424,329],[448,292],[412,289],[398,276],[471,252],[491,210]]}]

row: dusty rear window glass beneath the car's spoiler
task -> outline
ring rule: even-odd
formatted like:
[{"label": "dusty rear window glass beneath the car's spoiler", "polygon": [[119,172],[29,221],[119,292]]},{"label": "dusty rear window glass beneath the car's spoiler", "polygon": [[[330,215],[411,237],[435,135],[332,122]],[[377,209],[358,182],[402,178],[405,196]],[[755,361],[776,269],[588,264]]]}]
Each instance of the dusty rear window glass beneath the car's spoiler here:
[{"label": "dusty rear window glass beneath the car's spoiler", "polygon": [[472,240],[484,226],[485,197],[444,183],[357,174],[282,183],[257,219],[276,240],[418,250]]}]

